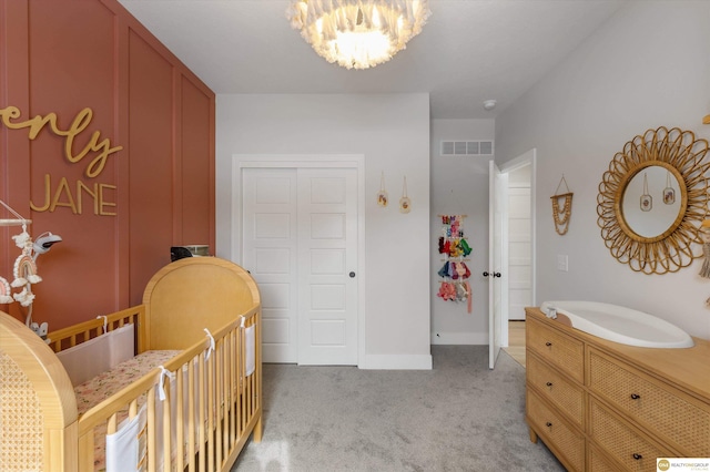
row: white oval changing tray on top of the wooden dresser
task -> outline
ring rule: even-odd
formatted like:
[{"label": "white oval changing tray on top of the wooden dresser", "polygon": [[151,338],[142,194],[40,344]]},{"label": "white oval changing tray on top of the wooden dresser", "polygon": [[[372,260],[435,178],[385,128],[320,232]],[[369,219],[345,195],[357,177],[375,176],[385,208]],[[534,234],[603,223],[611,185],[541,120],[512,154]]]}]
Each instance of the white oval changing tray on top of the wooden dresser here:
[{"label": "white oval changing tray on top of the wooden dresser", "polygon": [[691,348],[692,338],[670,322],[643,311],[597,301],[545,301],[548,317],[565,315],[572,328],[622,345],[642,348]]}]

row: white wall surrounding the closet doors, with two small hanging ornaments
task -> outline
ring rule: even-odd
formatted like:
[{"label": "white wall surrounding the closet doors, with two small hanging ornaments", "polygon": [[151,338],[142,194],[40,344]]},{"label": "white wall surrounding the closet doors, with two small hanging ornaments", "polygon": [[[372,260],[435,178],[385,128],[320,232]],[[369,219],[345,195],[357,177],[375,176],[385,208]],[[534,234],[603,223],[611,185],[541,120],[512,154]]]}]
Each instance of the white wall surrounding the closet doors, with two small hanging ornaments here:
[{"label": "white wall surrounding the closet doors, with two small hanging ornaments", "polygon": [[[365,359],[362,368],[430,369],[429,98],[217,95],[216,253],[232,254],[234,154],[365,156]],[[390,204],[376,204],[384,171]],[[398,201],[404,176],[412,212]]]}]

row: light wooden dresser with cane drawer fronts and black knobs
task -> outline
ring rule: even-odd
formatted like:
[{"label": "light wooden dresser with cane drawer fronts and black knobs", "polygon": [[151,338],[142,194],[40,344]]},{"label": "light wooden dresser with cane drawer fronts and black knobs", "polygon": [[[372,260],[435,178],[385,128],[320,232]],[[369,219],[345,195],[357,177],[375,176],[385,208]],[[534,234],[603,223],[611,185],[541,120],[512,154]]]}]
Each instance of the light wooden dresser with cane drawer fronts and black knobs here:
[{"label": "light wooden dresser with cane drawer fronts and black knobs", "polygon": [[638,348],[538,308],[526,320],[530,440],[569,471],[656,472],[657,458],[710,458],[710,341]]}]

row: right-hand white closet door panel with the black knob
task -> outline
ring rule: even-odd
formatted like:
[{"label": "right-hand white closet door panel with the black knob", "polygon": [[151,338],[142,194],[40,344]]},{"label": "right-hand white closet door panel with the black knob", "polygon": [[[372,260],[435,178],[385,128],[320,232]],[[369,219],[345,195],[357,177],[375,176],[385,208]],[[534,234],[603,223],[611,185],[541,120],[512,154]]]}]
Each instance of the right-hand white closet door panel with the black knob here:
[{"label": "right-hand white closet door panel with the black knob", "polygon": [[357,171],[298,170],[298,363],[357,365]]}]

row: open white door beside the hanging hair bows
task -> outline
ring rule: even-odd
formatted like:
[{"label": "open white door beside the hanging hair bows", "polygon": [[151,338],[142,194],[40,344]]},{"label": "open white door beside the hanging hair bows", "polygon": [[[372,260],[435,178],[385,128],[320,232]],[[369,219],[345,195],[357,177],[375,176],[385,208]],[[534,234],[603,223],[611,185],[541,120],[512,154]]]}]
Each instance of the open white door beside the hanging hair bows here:
[{"label": "open white door beside the hanging hair bows", "polygon": [[[507,174],[501,174],[494,161],[489,163],[489,209],[488,209],[488,367],[494,369],[500,352],[500,339],[504,314],[507,299],[501,297],[507,293],[505,274],[501,274],[504,261],[507,259],[508,247],[506,226],[507,205]],[[507,317],[507,314],[506,314]]]}]

